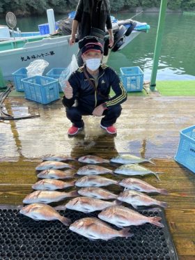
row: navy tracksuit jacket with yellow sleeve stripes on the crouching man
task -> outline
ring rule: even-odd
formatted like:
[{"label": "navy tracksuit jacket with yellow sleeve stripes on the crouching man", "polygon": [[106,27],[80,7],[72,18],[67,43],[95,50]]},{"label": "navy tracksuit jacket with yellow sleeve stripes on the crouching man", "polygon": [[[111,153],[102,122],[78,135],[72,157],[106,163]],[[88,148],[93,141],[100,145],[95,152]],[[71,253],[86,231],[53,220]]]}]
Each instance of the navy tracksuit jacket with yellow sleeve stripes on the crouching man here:
[{"label": "navy tracksuit jacket with yellow sleeve stripes on the crouching man", "polygon": [[[116,72],[109,66],[101,64],[97,81],[89,73],[88,77],[95,82],[96,90],[86,79],[82,67],[70,75],[68,82],[72,86],[73,97],[67,99],[63,95],[62,102],[65,107],[72,107],[77,99],[79,106],[84,107],[88,112],[92,112],[95,107],[102,103],[105,103],[109,109],[109,107],[120,105],[127,100],[127,92],[123,83]],[[115,95],[110,98],[111,89]]]}]

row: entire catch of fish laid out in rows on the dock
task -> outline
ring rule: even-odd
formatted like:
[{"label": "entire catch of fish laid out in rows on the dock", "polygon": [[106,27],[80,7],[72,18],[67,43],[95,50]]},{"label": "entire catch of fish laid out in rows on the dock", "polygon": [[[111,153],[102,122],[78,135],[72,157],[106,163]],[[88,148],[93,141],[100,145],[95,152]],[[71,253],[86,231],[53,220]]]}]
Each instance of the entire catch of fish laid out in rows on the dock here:
[{"label": "entire catch of fish laid out in rows on the dock", "polygon": [[[65,161],[73,160],[89,165],[84,165],[76,170],[74,165]],[[165,189],[155,188],[145,181],[138,178],[124,178],[123,180],[113,180],[99,176],[102,174],[123,174],[127,176],[157,173],[138,165],[141,162],[151,162],[135,155],[122,154],[105,160],[95,155],[86,155],[81,158],[72,158],[68,155],[52,155],[43,158],[43,162],[36,167],[40,181],[34,183],[32,188],[36,191],[28,194],[23,202],[29,204],[24,206],[20,213],[31,217],[33,220],[59,220],[65,226],[70,226],[70,230],[77,234],[86,236],[90,240],[102,239],[109,240],[116,237],[131,237],[130,226],[141,225],[145,223],[154,224],[157,227],[164,227],[159,222],[161,217],[146,217],[141,213],[134,211],[127,206],[122,206],[123,202],[130,204],[135,209],[138,206],[158,205],[166,208],[167,204],[163,201],[157,201],[145,193],[168,194]],[[103,163],[122,164],[114,170],[100,166]],[[99,165],[97,165],[99,164]],[[65,169],[67,168],[67,169]],[[63,169],[63,170],[62,170]],[[63,179],[82,176],[74,181],[61,181]],[[108,185],[118,185],[125,188],[120,194],[114,194],[109,190],[101,188]],[[69,187],[80,188],[70,192],[59,192],[56,190]],[[81,196],[81,197],[79,197]],[[101,211],[98,217],[84,217],[71,224],[68,217],[64,217],[56,211],[49,203],[62,201],[65,198],[70,199],[63,207],[70,210],[81,211],[83,213],[92,213]],[[108,201],[114,199],[114,201]],[[121,230],[116,230],[106,222],[114,224]]]}]

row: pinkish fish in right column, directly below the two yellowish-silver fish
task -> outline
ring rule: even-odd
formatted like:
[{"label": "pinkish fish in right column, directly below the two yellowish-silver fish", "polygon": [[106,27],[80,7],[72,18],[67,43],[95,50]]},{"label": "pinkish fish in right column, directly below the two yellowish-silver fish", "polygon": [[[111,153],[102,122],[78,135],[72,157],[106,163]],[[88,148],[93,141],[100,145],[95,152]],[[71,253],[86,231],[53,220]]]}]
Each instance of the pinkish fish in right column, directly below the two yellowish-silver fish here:
[{"label": "pinkish fish in right column, directly below the two yellowish-silver fish", "polygon": [[146,183],[146,181],[139,180],[139,178],[124,178],[119,182],[119,185],[129,190],[137,190],[139,192],[157,192],[165,195],[168,194],[167,190],[155,188],[149,183]]}]

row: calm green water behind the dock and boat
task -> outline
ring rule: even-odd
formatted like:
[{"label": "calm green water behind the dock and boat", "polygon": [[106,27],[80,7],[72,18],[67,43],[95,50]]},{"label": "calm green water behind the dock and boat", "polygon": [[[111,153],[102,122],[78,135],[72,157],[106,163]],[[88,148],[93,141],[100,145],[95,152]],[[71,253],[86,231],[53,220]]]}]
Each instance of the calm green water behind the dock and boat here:
[{"label": "calm green water behind the dock and boat", "polygon": [[[134,15],[134,13],[125,13],[115,15],[115,17],[122,20]],[[134,20],[150,24],[150,31],[140,33],[130,45],[127,45],[120,52],[112,52],[109,58],[110,66],[118,72],[120,67],[139,66],[144,72],[144,79],[150,79],[158,15],[158,13],[143,13],[134,17]],[[56,20],[62,17],[62,15],[55,16]],[[46,21],[46,15],[43,17],[18,18],[17,27],[21,31],[38,31],[38,24],[43,24]],[[5,20],[1,19],[0,24],[5,24]],[[194,24],[195,15],[166,14],[157,79],[195,79]]]}]

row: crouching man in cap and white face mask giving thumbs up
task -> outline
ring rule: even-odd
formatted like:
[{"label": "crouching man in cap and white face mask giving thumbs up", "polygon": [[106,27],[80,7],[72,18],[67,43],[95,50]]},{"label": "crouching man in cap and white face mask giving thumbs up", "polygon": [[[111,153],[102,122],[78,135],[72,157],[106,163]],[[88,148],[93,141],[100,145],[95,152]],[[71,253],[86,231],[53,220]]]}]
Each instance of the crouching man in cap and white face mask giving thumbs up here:
[{"label": "crouching man in cap and white face mask giving thumbs up", "polygon": [[[103,116],[100,127],[109,134],[116,134],[114,127],[120,116],[120,104],[127,100],[127,93],[116,72],[102,64],[103,48],[98,38],[87,36],[79,43],[84,66],[70,75],[64,90],[63,105],[72,122],[68,135],[77,135],[84,128],[82,116]],[[113,89],[115,95],[109,98]],[[75,106],[77,100],[77,106]]]}]

